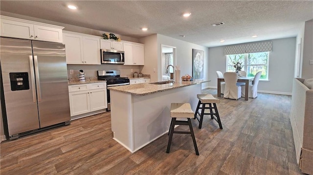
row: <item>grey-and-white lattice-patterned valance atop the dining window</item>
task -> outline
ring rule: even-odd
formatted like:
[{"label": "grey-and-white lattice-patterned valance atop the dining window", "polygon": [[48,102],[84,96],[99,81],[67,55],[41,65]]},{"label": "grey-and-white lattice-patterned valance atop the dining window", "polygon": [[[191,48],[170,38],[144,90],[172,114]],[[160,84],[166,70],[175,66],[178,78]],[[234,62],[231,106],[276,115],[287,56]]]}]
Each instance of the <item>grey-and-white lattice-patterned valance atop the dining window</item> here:
[{"label": "grey-and-white lattice-patterned valance atop the dining window", "polygon": [[272,51],[272,41],[236,44],[224,47],[224,55],[270,52],[270,51]]}]

